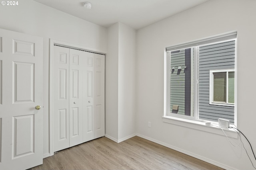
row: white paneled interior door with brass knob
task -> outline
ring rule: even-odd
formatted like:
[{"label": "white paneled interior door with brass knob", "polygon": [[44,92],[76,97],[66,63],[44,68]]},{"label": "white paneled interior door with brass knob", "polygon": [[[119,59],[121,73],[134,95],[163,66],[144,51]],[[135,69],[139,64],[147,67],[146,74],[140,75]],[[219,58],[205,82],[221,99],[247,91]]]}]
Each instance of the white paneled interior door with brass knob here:
[{"label": "white paneled interior door with brass knob", "polygon": [[42,45],[0,29],[0,169],[42,164]]}]

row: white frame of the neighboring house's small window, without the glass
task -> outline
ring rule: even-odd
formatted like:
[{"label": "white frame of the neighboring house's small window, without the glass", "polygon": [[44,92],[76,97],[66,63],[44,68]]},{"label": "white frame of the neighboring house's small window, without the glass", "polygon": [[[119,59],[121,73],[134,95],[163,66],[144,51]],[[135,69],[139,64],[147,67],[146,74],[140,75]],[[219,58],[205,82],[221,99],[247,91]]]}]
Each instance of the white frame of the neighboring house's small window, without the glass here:
[{"label": "white frame of the neighboring house's small window, without the glass", "polygon": [[[213,73],[215,72],[226,72],[226,100],[227,102],[224,103],[224,102],[216,102],[216,101],[213,101]],[[209,104],[210,105],[218,105],[218,106],[232,106],[234,107],[235,104],[234,103],[228,103],[228,73],[229,72],[235,72],[235,69],[221,69],[221,70],[210,70],[210,96],[209,96]],[[236,74],[236,73],[235,73]],[[236,82],[236,79],[235,79],[235,82]],[[236,83],[235,83],[235,86],[236,86]]]}]

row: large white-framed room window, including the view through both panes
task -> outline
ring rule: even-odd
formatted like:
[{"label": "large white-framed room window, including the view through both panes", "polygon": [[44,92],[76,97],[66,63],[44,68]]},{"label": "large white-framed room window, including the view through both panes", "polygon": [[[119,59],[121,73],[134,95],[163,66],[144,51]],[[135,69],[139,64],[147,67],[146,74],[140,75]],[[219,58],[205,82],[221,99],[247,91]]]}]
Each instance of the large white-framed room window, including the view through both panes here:
[{"label": "large white-framed room window, including the view through both panes", "polygon": [[236,33],[166,51],[166,115],[234,123]]}]

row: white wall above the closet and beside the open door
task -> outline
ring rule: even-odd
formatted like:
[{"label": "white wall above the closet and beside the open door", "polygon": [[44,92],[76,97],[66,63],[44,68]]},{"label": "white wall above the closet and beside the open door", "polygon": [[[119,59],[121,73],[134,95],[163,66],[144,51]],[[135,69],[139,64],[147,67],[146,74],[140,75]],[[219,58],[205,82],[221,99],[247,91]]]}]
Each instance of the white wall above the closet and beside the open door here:
[{"label": "white wall above the closet and beside the open door", "polygon": [[0,28],[43,37],[44,156],[49,154],[49,39],[106,52],[107,29],[32,0],[0,7]]}]

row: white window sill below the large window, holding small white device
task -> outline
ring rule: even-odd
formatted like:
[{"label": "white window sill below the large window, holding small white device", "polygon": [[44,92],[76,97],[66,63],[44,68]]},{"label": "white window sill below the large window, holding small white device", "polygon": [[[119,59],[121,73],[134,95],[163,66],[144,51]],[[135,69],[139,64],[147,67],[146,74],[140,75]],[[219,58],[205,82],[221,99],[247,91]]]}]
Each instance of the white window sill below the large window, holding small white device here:
[{"label": "white window sill below the large window, holding small white device", "polygon": [[[173,116],[167,116],[167,115],[163,116],[162,120],[165,123],[170,123],[173,125],[188,127],[190,129],[196,129],[199,131],[205,131],[205,132],[225,136],[225,134],[220,129],[220,127],[217,127],[218,125],[208,126],[208,125],[205,125],[205,122],[202,122],[202,121],[184,119],[184,118],[180,118],[180,117],[173,117]],[[228,137],[238,139],[238,134],[236,133],[236,131],[234,129],[230,129],[230,128],[229,129],[222,128],[222,129],[225,131],[225,133]]]}]

